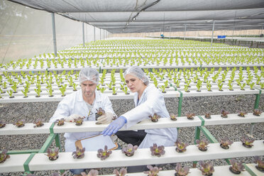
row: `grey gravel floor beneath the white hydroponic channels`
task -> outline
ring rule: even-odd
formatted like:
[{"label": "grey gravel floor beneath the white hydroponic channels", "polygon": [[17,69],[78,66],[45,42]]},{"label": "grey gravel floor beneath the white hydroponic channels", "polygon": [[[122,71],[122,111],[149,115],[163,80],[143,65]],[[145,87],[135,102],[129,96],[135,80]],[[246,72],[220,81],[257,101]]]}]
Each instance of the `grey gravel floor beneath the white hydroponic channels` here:
[{"label": "grey gravel floor beneath the white hydroponic channels", "polygon": [[[177,114],[178,99],[165,99],[167,110],[170,113]],[[217,96],[217,97],[185,97],[182,101],[182,116],[186,113],[192,112],[196,115],[204,115],[206,112],[211,114],[220,114],[221,109],[229,111],[230,114],[237,113],[238,111],[252,112],[255,103],[255,95],[236,95],[236,96]],[[16,119],[26,119],[27,123],[32,123],[34,119],[43,119],[48,122],[58,102],[39,102],[39,103],[13,103],[13,104],[0,104],[0,119],[5,123],[13,123]],[[113,109],[117,115],[131,109],[133,101],[129,100],[112,100]],[[264,96],[260,97],[259,109],[264,111]],[[249,124],[225,125],[225,126],[208,126],[207,129],[213,136],[219,140],[224,136],[229,136],[233,141],[240,141],[243,135],[249,133]],[[255,140],[263,139],[264,137],[264,123],[255,124],[253,137]],[[188,142],[190,145],[194,144],[194,131],[195,128],[180,128],[179,138],[182,141]],[[63,134],[61,136],[62,147],[64,147]],[[204,137],[204,136],[202,136]],[[23,135],[23,136],[0,136],[1,150],[6,148],[8,150],[26,150],[41,148],[45,143],[48,135]],[[120,145],[123,145],[119,141]],[[53,143],[54,145],[54,143]],[[253,157],[236,158],[244,163],[253,163]],[[191,162],[185,165],[192,166]],[[214,160],[214,165],[226,165],[225,160]],[[174,170],[174,165],[165,165],[163,170]],[[119,168],[118,168],[119,169]],[[114,168],[101,168],[99,174],[111,174]],[[53,171],[39,171],[35,175],[52,175]],[[4,173],[1,175],[22,175],[22,172]],[[68,175],[71,175],[70,173]]]}]

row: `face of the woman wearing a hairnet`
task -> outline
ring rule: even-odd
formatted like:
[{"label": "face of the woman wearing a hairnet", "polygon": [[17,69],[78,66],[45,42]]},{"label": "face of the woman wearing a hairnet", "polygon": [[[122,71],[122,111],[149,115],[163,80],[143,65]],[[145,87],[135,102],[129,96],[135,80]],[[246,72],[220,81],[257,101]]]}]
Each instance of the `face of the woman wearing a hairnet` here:
[{"label": "face of the woman wearing a hairnet", "polygon": [[138,77],[135,77],[133,75],[126,75],[126,85],[131,90],[131,92],[138,92],[141,89],[144,89],[144,83],[139,79]]}]

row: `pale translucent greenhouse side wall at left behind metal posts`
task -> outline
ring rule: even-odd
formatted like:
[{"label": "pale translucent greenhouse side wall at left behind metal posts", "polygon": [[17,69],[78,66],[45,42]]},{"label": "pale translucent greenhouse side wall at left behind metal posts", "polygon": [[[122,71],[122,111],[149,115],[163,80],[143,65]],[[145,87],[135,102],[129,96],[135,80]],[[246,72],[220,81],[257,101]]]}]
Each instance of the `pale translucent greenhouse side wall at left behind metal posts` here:
[{"label": "pale translucent greenhouse side wall at left behind metal posts", "polygon": [[[0,63],[53,53],[51,13],[6,0],[0,1],[0,9]],[[82,22],[55,14],[55,29],[57,50],[82,44]],[[84,33],[85,42],[94,40],[93,26],[84,24]],[[99,38],[96,28],[96,40]]]}]

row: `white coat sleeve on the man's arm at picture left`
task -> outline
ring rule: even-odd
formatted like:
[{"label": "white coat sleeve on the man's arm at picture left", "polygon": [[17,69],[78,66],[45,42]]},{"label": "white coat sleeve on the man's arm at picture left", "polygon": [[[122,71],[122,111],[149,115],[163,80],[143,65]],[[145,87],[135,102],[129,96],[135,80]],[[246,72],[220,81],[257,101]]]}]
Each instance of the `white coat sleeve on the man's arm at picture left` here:
[{"label": "white coat sleeve on the man's arm at picture left", "polygon": [[55,113],[53,114],[53,117],[50,118],[50,123],[55,122],[57,119],[65,118],[66,116],[70,116],[70,107],[69,104],[67,104],[66,99],[63,99],[60,101],[60,103],[57,105],[57,109]]}]

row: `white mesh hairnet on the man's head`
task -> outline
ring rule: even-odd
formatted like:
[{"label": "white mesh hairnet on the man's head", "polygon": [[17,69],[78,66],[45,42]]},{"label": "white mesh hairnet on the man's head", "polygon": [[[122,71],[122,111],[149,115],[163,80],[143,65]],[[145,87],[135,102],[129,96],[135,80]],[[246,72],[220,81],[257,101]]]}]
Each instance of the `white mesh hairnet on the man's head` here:
[{"label": "white mesh hairnet on the man's head", "polygon": [[97,70],[92,67],[82,68],[82,70],[79,72],[79,84],[82,84],[84,81],[92,81],[98,84],[99,72],[97,72]]}]

